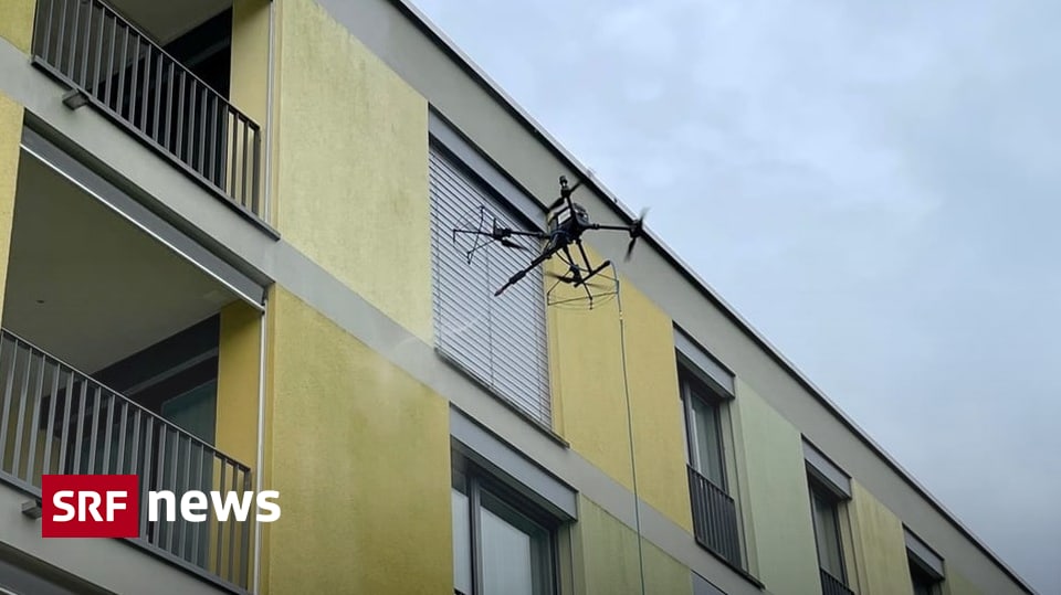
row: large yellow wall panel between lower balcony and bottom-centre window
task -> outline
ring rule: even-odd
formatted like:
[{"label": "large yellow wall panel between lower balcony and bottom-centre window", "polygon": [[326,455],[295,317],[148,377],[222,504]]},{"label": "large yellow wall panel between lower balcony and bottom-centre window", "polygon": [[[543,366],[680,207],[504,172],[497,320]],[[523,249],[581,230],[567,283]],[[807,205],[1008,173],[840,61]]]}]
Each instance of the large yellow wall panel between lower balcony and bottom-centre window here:
[{"label": "large yellow wall panel between lower balcony and bottom-centre window", "polygon": [[269,592],[452,593],[447,402],[285,289],[270,307]]}]

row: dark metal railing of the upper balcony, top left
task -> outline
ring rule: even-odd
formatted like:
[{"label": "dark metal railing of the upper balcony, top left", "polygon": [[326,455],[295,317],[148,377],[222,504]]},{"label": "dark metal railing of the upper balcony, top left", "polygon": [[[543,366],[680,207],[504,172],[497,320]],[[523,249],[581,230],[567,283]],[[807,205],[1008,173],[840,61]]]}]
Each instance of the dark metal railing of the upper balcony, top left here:
[{"label": "dark metal railing of the upper balcony, top left", "polygon": [[[39,0],[34,63],[180,169],[264,220],[262,132],[99,0]],[[84,103],[82,102],[82,103]]]}]

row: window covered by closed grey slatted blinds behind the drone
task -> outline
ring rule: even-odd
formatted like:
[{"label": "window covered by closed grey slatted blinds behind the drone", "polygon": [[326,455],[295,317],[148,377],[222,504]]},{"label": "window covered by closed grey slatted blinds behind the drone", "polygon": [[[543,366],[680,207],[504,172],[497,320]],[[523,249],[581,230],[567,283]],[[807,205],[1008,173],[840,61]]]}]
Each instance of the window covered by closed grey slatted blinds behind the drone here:
[{"label": "window covered by closed grey slatted blinds behind the drone", "polygon": [[[540,267],[501,296],[494,291],[526,266],[527,254],[495,244],[475,251],[454,229],[497,225],[530,230],[485,183],[445,149],[430,153],[431,253],[435,347],[498,396],[551,427],[545,334],[545,281]],[[528,249],[534,240],[513,238]]]}]

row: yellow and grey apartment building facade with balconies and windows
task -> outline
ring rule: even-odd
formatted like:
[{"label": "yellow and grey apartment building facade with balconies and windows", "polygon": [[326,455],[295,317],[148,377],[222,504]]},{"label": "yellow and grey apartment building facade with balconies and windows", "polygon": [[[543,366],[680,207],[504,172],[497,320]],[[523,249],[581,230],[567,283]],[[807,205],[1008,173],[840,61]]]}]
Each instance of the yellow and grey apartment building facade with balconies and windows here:
[{"label": "yellow and grey apartment building facade with balconies and windows", "polygon": [[493,296],[454,227],[631,214],[406,1],[0,6],[0,593],[1031,593],[651,234]]}]

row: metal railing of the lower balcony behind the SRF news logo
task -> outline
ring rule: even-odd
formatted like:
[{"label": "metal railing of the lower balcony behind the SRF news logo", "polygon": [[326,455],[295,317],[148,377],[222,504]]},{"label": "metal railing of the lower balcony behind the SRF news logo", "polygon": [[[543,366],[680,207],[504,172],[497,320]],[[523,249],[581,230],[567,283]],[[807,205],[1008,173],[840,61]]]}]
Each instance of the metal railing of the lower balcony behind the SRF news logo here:
[{"label": "metal railing of the lower balcony behind the SRF news logo", "polygon": [[[130,542],[237,591],[248,588],[252,520],[148,520],[147,492],[243,495],[251,470],[15,334],[0,330],[0,480],[36,497],[49,474],[135,474],[140,534]],[[165,507],[165,504],[162,504]]]}]

